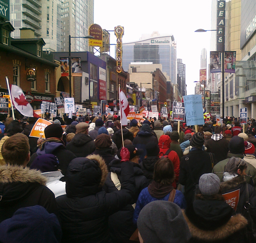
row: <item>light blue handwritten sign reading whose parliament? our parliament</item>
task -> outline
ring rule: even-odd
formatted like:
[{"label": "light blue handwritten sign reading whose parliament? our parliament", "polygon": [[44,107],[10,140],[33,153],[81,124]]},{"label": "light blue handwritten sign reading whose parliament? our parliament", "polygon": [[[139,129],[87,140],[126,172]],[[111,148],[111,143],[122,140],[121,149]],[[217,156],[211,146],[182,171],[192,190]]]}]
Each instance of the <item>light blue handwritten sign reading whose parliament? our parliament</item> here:
[{"label": "light blue handwritten sign reading whose parliament? our parliament", "polygon": [[187,126],[203,125],[204,113],[202,95],[186,95],[183,96],[183,100],[185,105]]}]

